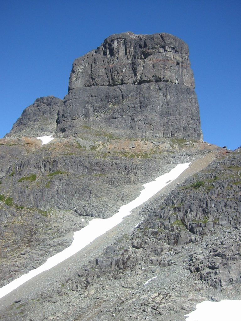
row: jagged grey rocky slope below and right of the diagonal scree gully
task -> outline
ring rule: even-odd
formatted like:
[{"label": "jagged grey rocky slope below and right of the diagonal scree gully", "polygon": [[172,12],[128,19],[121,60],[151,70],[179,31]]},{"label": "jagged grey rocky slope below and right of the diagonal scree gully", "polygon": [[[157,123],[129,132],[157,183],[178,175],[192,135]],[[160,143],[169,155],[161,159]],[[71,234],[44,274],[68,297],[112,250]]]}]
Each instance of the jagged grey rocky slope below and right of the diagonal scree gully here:
[{"label": "jagged grey rocky slope below and right of the diagonal scree gully", "polygon": [[240,149],[219,152],[148,202],[133,232],[3,320],[184,320],[203,300],[240,299],[240,173]]}]

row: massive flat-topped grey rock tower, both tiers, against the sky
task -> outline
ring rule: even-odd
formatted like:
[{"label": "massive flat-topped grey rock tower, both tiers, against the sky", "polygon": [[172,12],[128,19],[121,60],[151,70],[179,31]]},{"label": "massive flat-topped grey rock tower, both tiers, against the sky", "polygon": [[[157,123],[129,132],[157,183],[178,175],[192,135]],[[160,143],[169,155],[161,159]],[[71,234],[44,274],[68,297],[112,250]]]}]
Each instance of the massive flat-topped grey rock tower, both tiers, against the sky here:
[{"label": "massive flat-topped grey rock tower, both tiers, against the sky", "polygon": [[166,34],[115,34],[77,58],[58,133],[81,126],[129,137],[201,139],[188,46]]}]

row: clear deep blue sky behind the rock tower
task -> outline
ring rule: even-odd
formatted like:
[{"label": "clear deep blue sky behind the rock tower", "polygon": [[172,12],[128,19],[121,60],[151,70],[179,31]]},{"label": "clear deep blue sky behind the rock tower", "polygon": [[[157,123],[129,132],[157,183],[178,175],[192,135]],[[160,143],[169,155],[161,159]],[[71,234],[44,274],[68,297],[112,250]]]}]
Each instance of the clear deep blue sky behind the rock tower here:
[{"label": "clear deep blue sky behind the rock tower", "polygon": [[241,0],[0,0],[0,137],[42,96],[63,98],[75,58],[113,33],[167,32],[190,49],[204,141],[241,145]]}]

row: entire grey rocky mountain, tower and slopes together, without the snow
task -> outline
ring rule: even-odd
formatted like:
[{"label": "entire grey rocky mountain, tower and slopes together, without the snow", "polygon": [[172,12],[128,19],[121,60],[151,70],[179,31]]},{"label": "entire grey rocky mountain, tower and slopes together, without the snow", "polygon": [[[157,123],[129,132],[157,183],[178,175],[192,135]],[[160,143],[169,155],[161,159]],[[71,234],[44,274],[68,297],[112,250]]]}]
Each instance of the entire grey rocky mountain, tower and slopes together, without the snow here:
[{"label": "entire grey rocky mountain, tower and slopes together, without the snow", "polygon": [[[42,145],[45,135],[54,139]],[[63,275],[49,271],[34,293],[1,299],[3,320],[174,321],[201,300],[240,298],[241,153],[201,138],[182,40],[127,32],[77,58],[64,100],[35,100],[0,140],[1,285],[116,213],[142,184],[193,165],[96,251],[95,242],[70,270],[65,262]]]}]

